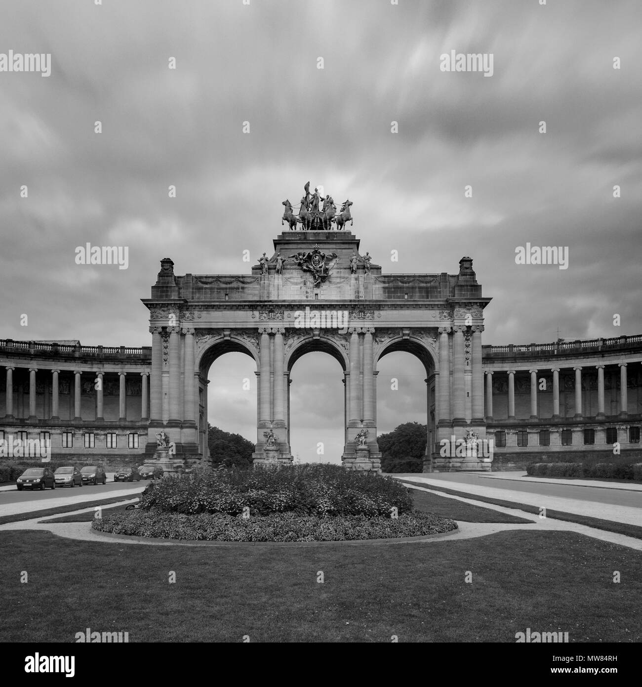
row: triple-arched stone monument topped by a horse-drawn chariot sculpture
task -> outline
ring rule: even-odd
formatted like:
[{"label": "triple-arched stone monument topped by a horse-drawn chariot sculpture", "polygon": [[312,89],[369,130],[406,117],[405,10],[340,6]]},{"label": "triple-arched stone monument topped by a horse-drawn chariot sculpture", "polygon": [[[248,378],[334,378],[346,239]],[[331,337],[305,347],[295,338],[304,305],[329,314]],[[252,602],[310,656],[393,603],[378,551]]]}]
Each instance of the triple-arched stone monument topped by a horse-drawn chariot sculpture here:
[{"label": "triple-arched stone monument topped by a horse-drawn chariot sculpture", "polygon": [[176,458],[207,457],[207,373],[236,351],[257,366],[255,462],[290,462],[290,370],[306,352],[324,351],[343,368],[343,464],[378,470],[378,363],[406,351],[426,370],[424,471],[490,469],[474,451],[454,449],[485,438],[481,333],[490,298],[472,259],[461,258],[456,274],[384,274],[374,260],[389,260],[390,250],[360,252],[348,228],[352,202],[337,213],[330,196],[319,207],[317,190],[305,190],[298,214],[284,201],[286,228],[249,274],[177,275],[161,260],[143,299],[152,333],[146,451],[165,431]]}]

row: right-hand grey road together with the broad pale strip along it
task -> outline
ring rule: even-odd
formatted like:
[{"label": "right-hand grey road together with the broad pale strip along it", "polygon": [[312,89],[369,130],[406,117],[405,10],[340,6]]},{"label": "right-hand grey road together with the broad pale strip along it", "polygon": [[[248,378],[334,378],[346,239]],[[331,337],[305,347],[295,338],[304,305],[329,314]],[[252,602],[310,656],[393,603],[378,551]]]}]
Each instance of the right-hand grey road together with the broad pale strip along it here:
[{"label": "right-hand grey road together with the broad pale strip along it", "polygon": [[[613,488],[600,489],[596,487],[593,487],[591,493],[588,493],[588,490],[582,486],[572,485],[565,487],[566,493],[573,494],[573,497],[569,498],[542,493],[555,491],[553,486],[549,484],[531,484],[529,482],[525,485],[520,481],[507,482],[507,478],[493,482],[492,480],[485,480],[483,475],[478,473],[405,473],[404,475],[391,476],[400,480],[411,479],[413,482],[419,482],[426,487],[440,486],[472,496],[485,496],[501,501],[529,504],[529,506],[536,506],[536,508],[561,510],[564,513],[586,515],[642,527],[642,494],[639,493],[626,493]],[[528,491],[524,491],[525,488]],[[618,505],[619,500],[624,499],[637,505]],[[483,505],[486,508],[489,507],[489,504]]]}]

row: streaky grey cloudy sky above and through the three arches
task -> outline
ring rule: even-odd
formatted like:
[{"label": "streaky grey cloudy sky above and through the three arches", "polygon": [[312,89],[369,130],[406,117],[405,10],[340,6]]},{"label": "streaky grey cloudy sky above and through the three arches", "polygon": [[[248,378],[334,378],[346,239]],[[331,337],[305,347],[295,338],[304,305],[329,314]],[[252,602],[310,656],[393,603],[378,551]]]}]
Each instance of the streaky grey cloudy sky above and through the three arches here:
[{"label": "streaky grey cloudy sky above and through the three arches", "polygon": [[[139,299],[160,258],[247,273],[242,251],[271,251],[281,201],[308,179],[352,199],[384,272],[471,256],[494,299],[484,343],[642,332],[639,0],[3,0],[1,14],[0,54],[50,53],[51,75],[0,71],[0,337],[150,345]],[[452,50],[492,54],[492,76],[441,71]],[[87,242],[127,246],[128,269],[76,264]],[[568,269],[516,264],[526,243],[569,247]],[[249,438],[253,370],[229,354],[210,372],[210,421]],[[423,422],[420,363],[381,370],[379,430]],[[293,449],[325,440],[335,460],[339,365],[308,354],[293,379]]]}]

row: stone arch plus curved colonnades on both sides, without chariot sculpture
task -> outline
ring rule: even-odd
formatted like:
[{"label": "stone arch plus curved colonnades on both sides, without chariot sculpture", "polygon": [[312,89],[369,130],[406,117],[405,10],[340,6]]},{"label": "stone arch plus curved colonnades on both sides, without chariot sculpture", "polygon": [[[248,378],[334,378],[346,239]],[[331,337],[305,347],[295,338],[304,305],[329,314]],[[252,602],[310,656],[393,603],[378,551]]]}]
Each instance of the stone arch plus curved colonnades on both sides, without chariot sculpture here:
[{"label": "stone arch plus curved colonnades on both sides, without chariot sculpture", "polygon": [[[150,347],[0,340],[0,439],[44,436],[54,460],[120,464],[152,458],[163,430],[176,460],[207,458],[209,367],[236,351],[256,365],[255,460],[290,462],[290,370],[319,350],[343,369],[343,463],[377,470],[378,363],[406,351],[426,372],[424,471],[490,469],[442,455],[442,440],[470,433],[495,440],[493,469],[587,452],[609,460],[614,437],[642,460],[642,336],[483,346],[490,298],[470,258],[456,274],[384,275],[354,260],[363,256],[349,231],[273,243],[245,275],[175,275],[161,260],[143,300]],[[301,259],[314,251],[321,273]]]}]

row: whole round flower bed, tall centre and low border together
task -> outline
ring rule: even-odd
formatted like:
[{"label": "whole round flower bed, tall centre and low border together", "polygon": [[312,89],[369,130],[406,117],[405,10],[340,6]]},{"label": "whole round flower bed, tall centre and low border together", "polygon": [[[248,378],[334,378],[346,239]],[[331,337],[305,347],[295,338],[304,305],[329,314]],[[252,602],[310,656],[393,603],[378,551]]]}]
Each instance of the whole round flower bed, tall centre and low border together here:
[{"label": "whole round flower bed, tall centre and low border together", "polygon": [[198,470],[150,483],[138,510],[92,523],[112,534],[211,541],[347,541],[449,532],[400,482],[341,465]]}]

